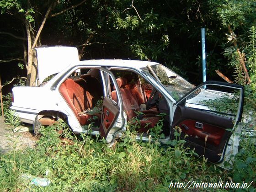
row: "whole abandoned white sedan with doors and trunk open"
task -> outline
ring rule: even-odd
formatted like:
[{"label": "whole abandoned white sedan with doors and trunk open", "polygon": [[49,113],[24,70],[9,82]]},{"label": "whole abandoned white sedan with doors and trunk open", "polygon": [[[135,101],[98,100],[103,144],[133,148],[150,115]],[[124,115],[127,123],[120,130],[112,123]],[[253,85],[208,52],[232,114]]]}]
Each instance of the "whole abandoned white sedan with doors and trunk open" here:
[{"label": "whole abandoned white sedan with doors and trunk open", "polygon": [[[138,139],[148,140],[160,122],[155,134],[160,142],[175,138],[179,126],[181,139],[213,163],[221,164],[238,150],[241,85],[208,81],[194,87],[155,62],[79,61],[71,47],[41,47],[35,53],[36,86],[14,87],[11,107],[22,122],[33,124],[35,133],[62,118],[75,133],[88,133],[91,124],[91,133],[108,143],[127,124],[136,129]],[[222,98],[231,102],[214,107]]]}]

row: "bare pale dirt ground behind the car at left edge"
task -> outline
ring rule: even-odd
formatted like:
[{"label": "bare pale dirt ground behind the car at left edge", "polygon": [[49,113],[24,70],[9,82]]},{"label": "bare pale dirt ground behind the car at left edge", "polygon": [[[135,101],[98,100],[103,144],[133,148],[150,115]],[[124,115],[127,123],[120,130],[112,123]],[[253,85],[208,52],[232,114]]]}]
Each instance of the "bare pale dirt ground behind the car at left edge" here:
[{"label": "bare pale dirt ground behind the car at left edge", "polygon": [[[27,125],[25,125],[27,126]],[[8,135],[11,135],[12,131],[10,126],[6,125],[4,118],[0,117],[0,153],[7,153],[12,149],[11,142],[8,141]],[[15,133],[18,134],[18,147],[17,149],[25,149],[27,147],[34,147],[37,141],[37,137],[32,131]]]}]

